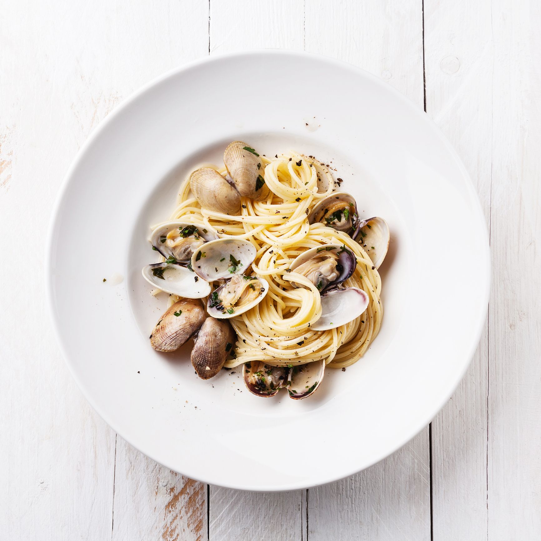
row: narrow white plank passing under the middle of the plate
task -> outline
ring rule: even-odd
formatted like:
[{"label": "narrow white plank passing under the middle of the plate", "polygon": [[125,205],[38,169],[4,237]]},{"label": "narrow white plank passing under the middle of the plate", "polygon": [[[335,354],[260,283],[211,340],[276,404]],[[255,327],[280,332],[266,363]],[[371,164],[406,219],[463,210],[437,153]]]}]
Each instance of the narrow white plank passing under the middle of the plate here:
[{"label": "narrow white plank passing under the middle of the plate", "polygon": [[[302,49],[303,23],[302,0],[211,1],[210,52]],[[210,540],[301,539],[305,506],[304,490],[260,494],[211,486]]]}]

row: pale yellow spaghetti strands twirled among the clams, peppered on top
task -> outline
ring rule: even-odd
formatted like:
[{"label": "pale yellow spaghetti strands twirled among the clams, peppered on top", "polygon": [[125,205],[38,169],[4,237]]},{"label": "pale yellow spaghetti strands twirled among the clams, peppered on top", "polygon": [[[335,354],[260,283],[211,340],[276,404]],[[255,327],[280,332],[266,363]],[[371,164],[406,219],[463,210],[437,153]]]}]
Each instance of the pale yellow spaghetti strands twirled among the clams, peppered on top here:
[{"label": "pale yellow spaghetti strands twirled among the clams, peppered on top", "polygon": [[[308,213],[334,189],[333,177],[324,165],[294,152],[272,160],[261,156],[261,163],[271,190],[267,201],[242,197],[240,216],[212,212],[201,208],[186,180],[170,218],[204,224],[219,237],[246,239],[257,249],[253,273],[269,282],[269,292],[258,305],[229,319],[237,333],[236,358],[228,359],[225,366],[254,360],[274,366],[300,365],[321,359],[333,368],[352,365],[371,345],[381,325],[378,271],[349,235],[323,223],[309,225]],[[226,173],[225,168],[216,170]],[[370,302],[361,316],[346,325],[313,331],[310,326],[321,315],[320,293],[310,280],[288,269],[305,250],[328,244],[345,245],[355,254],[357,267],[344,286],[364,289]],[[292,282],[304,287],[294,287]],[[170,305],[177,299],[171,295]]]}]

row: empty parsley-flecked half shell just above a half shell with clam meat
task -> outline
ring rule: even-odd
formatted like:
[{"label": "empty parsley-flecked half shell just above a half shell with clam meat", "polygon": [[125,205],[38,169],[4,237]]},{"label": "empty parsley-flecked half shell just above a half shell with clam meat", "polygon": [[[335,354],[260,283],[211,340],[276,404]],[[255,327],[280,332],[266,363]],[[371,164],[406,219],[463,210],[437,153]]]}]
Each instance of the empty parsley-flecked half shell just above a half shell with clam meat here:
[{"label": "empty parsley-flecked half shell just above a half shell with clam meat", "polygon": [[208,282],[241,274],[255,259],[256,249],[243,239],[218,239],[207,242],[192,256],[194,272]]}]

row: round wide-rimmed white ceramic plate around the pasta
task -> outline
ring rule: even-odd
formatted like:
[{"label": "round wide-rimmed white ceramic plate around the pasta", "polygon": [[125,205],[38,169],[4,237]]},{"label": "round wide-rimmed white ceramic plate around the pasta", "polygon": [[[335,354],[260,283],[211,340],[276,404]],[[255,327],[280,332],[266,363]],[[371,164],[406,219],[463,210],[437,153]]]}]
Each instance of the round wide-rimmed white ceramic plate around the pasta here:
[{"label": "round wide-rimmed white ceramic plate around the pasta", "polygon": [[[239,369],[200,380],[188,347],[170,357],[149,344],[164,308],[141,276],[155,261],[149,225],[236,139],[331,164],[360,214],[391,227],[380,334],[306,400],[255,397]],[[109,115],[69,170],[48,267],[65,358],[107,423],[172,470],[258,491],[349,476],[415,436],[470,362],[490,276],[477,196],[426,114],[364,71],[280,51],[190,64]]]}]

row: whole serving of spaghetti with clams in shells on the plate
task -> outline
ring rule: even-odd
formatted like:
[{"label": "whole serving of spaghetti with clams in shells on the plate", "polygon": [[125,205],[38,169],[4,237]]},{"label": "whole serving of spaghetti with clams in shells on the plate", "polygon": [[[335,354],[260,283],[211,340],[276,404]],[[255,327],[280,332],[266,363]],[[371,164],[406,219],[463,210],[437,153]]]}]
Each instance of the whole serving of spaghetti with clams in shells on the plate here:
[{"label": "whole serving of spaghetti with clams in shells on the plate", "polygon": [[235,141],[223,161],[193,171],[151,233],[162,261],[143,276],[169,293],[151,345],[170,352],[194,338],[201,378],[242,364],[250,392],[305,398],[326,367],[352,365],[379,332],[389,228],[361,220],[313,156],[268,159]]}]

